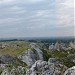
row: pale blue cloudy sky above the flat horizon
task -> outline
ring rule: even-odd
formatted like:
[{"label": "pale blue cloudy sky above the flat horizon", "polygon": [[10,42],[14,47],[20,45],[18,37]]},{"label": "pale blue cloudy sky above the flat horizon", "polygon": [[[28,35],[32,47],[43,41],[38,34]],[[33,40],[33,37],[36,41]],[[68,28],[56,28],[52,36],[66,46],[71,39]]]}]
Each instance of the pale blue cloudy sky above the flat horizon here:
[{"label": "pale blue cloudy sky above the flat horizon", "polygon": [[0,0],[0,38],[74,36],[74,0]]}]

